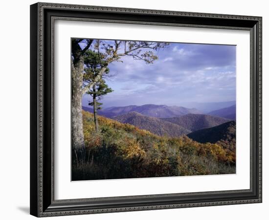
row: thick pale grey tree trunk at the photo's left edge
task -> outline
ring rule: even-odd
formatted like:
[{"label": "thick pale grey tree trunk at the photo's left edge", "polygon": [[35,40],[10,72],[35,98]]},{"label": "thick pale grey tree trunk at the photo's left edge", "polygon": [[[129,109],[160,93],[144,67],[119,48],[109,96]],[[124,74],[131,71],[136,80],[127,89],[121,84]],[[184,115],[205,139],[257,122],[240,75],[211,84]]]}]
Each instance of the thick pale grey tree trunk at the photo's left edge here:
[{"label": "thick pale grey tree trunk at the photo's left edge", "polygon": [[85,144],[82,118],[82,84],[84,59],[83,56],[71,61],[72,66],[72,100],[71,100],[71,127],[72,127],[72,150],[78,163],[85,161]]}]

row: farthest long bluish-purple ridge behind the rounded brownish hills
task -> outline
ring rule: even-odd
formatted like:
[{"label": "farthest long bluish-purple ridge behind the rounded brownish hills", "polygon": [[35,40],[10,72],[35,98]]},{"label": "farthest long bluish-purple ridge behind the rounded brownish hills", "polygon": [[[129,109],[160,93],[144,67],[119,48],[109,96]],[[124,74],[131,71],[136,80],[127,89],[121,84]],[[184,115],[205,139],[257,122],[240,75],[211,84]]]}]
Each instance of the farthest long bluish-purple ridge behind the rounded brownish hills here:
[{"label": "farthest long bluish-purple ridge behind the rounded brownish hills", "polygon": [[[89,107],[82,107],[83,110],[93,112],[93,110]],[[182,116],[188,113],[200,114],[197,109],[188,109],[179,106],[166,106],[166,105],[153,105],[147,104],[142,106],[123,106],[123,107],[110,107],[104,110],[98,110],[98,114],[105,117],[113,117],[116,115],[128,113],[131,111],[135,111],[141,113],[145,116],[156,117],[156,118],[169,118],[169,117],[177,117]]]}]

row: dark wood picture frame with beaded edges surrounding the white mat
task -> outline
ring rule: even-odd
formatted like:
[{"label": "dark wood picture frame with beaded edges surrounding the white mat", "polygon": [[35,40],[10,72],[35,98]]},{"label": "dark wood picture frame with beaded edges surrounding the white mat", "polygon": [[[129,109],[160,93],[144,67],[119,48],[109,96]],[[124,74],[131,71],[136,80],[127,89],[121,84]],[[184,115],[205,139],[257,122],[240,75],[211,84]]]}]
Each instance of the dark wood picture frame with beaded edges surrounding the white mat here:
[{"label": "dark wood picture frame with beaded edges surrounding the white mat", "polygon": [[[250,189],[54,199],[54,21],[250,31]],[[56,3],[30,6],[30,214],[37,217],[262,202],[262,18]]]}]

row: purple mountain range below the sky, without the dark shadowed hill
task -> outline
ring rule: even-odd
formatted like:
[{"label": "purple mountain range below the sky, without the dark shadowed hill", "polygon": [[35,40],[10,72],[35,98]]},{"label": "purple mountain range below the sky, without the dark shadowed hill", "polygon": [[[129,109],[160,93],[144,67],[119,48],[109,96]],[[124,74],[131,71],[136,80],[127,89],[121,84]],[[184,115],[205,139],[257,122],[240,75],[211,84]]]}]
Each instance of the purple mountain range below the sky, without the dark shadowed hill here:
[{"label": "purple mountain range below the sky, without the dark shadowed hill", "polygon": [[[83,110],[93,112],[89,107],[83,107]],[[197,109],[148,104],[111,107],[98,110],[98,115],[134,125],[157,135],[178,137],[235,120],[235,110],[236,106],[232,105],[202,114]]]}]

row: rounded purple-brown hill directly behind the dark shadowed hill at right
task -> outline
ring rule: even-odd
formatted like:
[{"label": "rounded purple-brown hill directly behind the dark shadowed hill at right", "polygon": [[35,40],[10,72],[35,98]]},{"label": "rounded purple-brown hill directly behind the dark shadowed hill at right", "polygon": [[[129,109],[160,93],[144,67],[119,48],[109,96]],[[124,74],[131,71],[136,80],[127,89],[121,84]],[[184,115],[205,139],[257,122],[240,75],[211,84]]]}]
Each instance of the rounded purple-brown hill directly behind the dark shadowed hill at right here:
[{"label": "rounded purple-brown hill directly behind the dark shadowed hill at right", "polygon": [[179,125],[190,131],[197,131],[204,128],[210,128],[221,125],[230,119],[207,114],[186,114],[180,117],[161,118],[161,120]]}]

